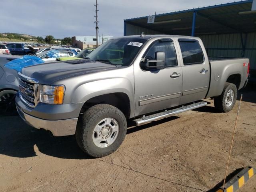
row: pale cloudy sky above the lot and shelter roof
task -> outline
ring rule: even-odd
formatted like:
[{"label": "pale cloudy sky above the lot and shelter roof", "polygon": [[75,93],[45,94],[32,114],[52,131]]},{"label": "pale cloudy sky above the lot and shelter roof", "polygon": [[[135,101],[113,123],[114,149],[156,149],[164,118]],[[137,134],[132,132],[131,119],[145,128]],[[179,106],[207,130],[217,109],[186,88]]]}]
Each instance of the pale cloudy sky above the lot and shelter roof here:
[{"label": "pale cloudy sky above the lot and shelter roof", "polygon": [[[99,33],[123,36],[124,19],[226,2],[232,1],[98,0]],[[54,38],[96,35],[94,4],[96,0],[6,0],[0,6],[0,33]]]}]

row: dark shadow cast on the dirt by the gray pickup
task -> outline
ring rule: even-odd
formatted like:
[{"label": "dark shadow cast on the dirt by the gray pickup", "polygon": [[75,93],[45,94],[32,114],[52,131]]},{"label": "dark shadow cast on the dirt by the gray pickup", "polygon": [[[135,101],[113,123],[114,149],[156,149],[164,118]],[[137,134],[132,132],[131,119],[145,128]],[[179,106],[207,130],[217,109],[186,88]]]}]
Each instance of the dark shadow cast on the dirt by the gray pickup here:
[{"label": "dark shadow cast on the dirt by the gray pickup", "polygon": [[[157,122],[134,127],[128,122],[127,134],[174,120],[172,116]],[[38,149],[37,149],[38,148]],[[25,124],[19,116],[0,116],[0,154],[26,158],[36,152],[66,159],[90,159],[77,145],[75,136],[54,137],[49,131],[38,130]]]}]

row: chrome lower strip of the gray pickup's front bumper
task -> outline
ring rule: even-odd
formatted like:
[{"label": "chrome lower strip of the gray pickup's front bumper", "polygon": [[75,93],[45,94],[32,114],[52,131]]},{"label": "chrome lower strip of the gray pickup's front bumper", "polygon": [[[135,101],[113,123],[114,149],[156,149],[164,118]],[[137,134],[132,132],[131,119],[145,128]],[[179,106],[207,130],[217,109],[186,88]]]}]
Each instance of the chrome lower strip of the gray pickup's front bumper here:
[{"label": "chrome lower strip of the gray pickup's front bumper", "polygon": [[74,135],[76,132],[78,118],[45,120],[24,113],[18,106],[16,108],[22,120],[34,128],[49,130],[54,136]]}]

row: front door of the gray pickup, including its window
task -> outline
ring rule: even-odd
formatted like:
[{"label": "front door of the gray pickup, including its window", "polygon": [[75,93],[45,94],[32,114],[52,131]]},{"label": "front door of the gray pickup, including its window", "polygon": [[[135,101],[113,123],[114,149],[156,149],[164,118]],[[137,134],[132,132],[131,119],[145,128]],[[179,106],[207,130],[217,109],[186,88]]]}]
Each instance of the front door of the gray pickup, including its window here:
[{"label": "front door of the gray pickup, including its window", "polygon": [[156,52],[165,52],[165,68],[145,70],[134,63],[135,115],[177,106],[182,92],[182,68],[171,39],[152,42],[143,58],[154,60]]}]

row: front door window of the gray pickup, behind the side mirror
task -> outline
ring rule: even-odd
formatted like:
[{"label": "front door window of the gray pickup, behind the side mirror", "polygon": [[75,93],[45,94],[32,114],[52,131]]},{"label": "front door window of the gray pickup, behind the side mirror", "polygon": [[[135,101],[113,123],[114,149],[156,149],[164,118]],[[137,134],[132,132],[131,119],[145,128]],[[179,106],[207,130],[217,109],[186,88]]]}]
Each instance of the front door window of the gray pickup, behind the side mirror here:
[{"label": "front door window of the gray pickup, behind the side mirror", "polygon": [[172,67],[177,66],[177,57],[174,48],[174,44],[171,41],[164,41],[161,40],[154,42],[146,53],[147,59],[155,59],[155,53],[158,51],[165,52],[165,66]]}]

